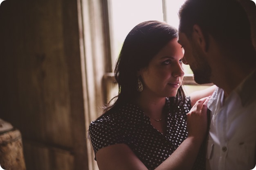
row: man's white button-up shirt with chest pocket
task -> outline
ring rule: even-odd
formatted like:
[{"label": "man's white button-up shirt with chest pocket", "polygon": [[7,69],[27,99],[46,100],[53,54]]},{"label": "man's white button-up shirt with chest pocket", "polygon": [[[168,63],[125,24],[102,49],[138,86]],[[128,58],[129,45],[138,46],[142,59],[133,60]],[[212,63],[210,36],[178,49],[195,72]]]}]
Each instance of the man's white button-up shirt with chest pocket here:
[{"label": "man's white button-up shirt with chest pocket", "polygon": [[207,170],[252,170],[256,163],[256,71],[225,100],[224,91],[217,87],[208,108]]}]

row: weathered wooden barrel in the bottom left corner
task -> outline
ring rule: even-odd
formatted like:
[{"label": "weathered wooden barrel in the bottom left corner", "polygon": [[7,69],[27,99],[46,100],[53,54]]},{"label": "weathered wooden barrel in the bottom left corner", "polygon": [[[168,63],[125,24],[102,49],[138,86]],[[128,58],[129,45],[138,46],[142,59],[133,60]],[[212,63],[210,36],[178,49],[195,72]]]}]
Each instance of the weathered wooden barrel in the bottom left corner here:
[{"label": "weathered wooden barrel in the bottom left corner", "polygon": [[20,131],[0,119],[0,166],[4,170],[26,170]]}]

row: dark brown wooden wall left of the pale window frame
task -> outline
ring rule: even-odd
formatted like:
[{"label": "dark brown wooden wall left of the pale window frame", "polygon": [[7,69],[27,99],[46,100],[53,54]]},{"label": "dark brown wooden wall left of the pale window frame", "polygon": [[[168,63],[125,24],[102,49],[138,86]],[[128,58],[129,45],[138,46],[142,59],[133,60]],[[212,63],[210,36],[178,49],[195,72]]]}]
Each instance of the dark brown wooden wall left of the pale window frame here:
[{"label": "dark brown wooden wall left of the pale window frame", "polygon": [[27,170],[86,170],[76,0],[0,6],[0,118],[22,133]]}]

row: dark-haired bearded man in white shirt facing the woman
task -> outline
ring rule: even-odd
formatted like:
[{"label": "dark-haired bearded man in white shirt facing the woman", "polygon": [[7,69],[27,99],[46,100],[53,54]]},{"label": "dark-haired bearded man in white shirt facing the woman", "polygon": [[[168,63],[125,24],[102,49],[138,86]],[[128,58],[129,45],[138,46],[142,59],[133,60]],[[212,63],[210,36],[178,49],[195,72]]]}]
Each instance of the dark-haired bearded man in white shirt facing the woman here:
[{"label": "dark-haired bearded man in white shirt facing the woman", "polygon": [[251,170],[256,164],[256,51],[247,14],[236,0],[187,0],[179,15],[184,63],[195,82],[218,86],[208,102],[207,170]]}]

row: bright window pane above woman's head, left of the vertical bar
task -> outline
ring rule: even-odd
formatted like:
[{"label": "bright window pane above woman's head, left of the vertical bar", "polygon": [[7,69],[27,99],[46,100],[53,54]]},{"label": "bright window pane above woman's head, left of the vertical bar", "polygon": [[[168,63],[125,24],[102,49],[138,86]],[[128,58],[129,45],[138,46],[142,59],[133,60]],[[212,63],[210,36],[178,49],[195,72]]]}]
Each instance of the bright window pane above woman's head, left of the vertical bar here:
[{"label": "bright window pane above woman's head, left of the vertical bar", "polygon": [[112,24],[112,65],[121,50],[126,35],[131,29],[147,20],[163,20],[160,0],[109,0]]}]

